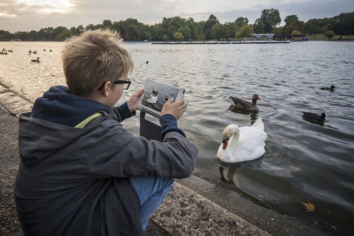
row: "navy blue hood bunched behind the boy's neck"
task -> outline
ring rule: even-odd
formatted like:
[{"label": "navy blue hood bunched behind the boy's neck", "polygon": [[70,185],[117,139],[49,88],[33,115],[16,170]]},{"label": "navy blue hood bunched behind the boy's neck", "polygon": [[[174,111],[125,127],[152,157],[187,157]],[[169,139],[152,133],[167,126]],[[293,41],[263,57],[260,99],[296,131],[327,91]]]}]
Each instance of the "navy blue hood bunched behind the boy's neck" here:
[{"label": "navy blue hood bunched behind the boy's neck", "polygon": [[32,117],[75,126],[98,111],[110,113],[110,110],[102,103],[71,94],[68,87],[54,86],[36,99],[32,108]]}]

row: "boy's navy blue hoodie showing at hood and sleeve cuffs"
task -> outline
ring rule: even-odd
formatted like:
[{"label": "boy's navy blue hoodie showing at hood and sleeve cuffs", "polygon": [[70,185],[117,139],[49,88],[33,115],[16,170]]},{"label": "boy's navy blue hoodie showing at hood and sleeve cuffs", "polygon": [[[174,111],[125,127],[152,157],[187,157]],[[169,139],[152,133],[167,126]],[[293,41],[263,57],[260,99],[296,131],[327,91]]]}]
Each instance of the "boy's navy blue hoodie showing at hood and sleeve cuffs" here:
[{"label": "boy's navy blue hoodie showing at hood and sleeve cuffs", "polygon": [[[136,112],[130,112],[127,103],[114,107],[120,114],[120,122],[136,115]],[[69,92],[68,87],[58,85],[51,87],[43,94],[43,97],[37,98],[32,108],[32,117],[53,123],[76,126],[87,117],[99,112],[110,113],[111,108],[94,100],[75,96]],[[185,137],[182,129],[177,126],[177,120],[174,116],[166,114],[160,117],[162,127],[161,137],[165,137],[168,132],[178,132]]]}]

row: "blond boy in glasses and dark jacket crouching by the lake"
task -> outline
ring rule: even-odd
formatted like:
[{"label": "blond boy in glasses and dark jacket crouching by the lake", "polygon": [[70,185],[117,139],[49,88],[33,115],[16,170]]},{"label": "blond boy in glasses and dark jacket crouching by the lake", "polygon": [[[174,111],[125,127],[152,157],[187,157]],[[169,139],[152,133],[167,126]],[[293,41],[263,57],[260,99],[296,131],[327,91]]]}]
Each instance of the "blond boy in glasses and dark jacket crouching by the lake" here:
[{"label": "blond boy in glasses and dark jacket crouching by the lake", "polygon": [[14,194],[25,235],[144,235],[173,178],[193,172],[198,149],[177,127],[184,99],[161,110],[163,143],[120,124],[143,90],[114,107],[133,69],[115,37],[97,30],[70,39],[62,52],[68,87],[51,87],[20,116]]}]

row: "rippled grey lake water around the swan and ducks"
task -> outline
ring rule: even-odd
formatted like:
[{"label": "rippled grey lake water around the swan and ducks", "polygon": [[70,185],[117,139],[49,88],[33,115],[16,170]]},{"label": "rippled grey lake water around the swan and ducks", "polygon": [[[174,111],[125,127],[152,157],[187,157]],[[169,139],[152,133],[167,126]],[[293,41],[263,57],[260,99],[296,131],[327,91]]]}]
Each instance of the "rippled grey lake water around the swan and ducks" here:
[{"label": "rippled grey lake water around the swan and ducks", "polygon": [[[12,89],[34,100],[50,86],[65,85],[63,43],[1,42],[2,47],[13,49],[0,55],[1,81]],[[354,234],[354,42],[124,47],[135,70],[122,99],[147,78],[185,88],[188,110],[178,123],[199,147],[197,176],[334,234]],[[38,54],[28,55],[29,49]],[[31,63],[37,56],[40,63]],[[319,89],[331,85],[334,92]],[[262,98],[258,114],[229,109],[229,95],[250,101],[253,93]],[[328,118],[312,123],[303,111],[326,112]],[[231,123],[250,126],[260,116],[268,134],[265,154],[220,163],[223,129]],[[138,134],[138,117],[124,124]],[[302,202],[315,211],[306,211]]]}]

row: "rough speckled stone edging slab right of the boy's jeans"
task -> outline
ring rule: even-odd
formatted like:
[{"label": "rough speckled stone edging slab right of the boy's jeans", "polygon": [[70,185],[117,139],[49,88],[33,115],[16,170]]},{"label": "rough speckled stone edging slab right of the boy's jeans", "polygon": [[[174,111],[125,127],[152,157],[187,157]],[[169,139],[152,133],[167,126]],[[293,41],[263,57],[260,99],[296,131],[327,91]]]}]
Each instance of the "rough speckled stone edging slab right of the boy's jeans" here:
[{"label": "rough speckled stone edging slab right of the boy's jeans", "polygon": [[151,220],[170,235],[270,236],[268,232],[176,182]]}]

